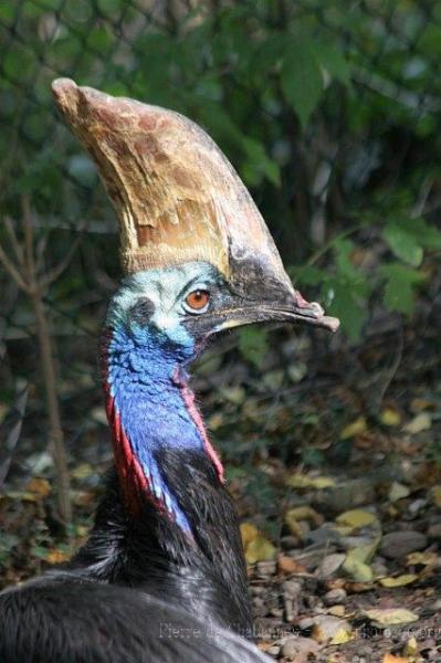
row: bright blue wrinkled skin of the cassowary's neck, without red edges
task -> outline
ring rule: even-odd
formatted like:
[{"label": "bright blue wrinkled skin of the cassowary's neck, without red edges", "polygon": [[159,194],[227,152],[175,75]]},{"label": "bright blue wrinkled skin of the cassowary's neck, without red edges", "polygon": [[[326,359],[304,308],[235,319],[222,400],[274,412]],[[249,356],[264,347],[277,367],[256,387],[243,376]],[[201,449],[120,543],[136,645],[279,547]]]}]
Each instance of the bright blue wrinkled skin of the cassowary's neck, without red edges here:
[{"label": "bright blue wrinkled skin of the cassowary's neck, without red edges", "polygon": [[[133,454],[133,460],[145,476],[149,496],[158,501],[182,530],[190,534],[186,514],[166,484],[155,452],[171,448],[206,453],[203,433],[186,403],[188,399],[183,397],[185,392],[191,392],[187,387],[182,390],[182,383],[187,382],[182,364],[192,355],[193,348],[167,343],[149,327],[137,335],[118,325],[108,329],[107,334],[108,344],[104,350],[105,388],[113,399],[114,414],[119,418],[120,430],[126,439],[123,462]],[[111,415],[115,431],[114,419]],[[115,444],[120,444],[117,435]],[[115,455],[119,471],[118,459],[122,455],[119,452]],[[134,478],[127,471],[119,474],[128,484]]]}]

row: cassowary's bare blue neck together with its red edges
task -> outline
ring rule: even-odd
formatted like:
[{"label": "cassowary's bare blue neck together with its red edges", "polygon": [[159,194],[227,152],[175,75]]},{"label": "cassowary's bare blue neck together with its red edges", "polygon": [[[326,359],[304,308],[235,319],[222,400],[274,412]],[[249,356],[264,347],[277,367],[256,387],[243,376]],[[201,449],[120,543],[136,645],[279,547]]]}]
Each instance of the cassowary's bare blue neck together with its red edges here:
[{"label": "cassowary's bare blue neck together with its red edges", "polygon": [[126,507],[133,515],[146,496],[191,535],[177,492],[161,472],[161,451],[206,454],[220,483],[223,469],[210,444],[188,376],[171,348],[147,336],[138,345],[123,327],[102,341],[103,386],[114,454]]}]

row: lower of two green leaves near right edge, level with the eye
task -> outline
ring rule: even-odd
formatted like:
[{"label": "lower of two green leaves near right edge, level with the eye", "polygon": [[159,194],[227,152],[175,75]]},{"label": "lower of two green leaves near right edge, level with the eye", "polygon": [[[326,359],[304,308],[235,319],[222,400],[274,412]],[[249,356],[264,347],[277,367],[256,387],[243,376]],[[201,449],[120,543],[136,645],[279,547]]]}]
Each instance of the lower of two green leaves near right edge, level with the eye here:
[{"label": "lower of two green leaves near right edge, level with the eye", "polygon": [[379,271],[386,278],[385,306],[389,311],[410,316],[413,312],[414,288],[424,281],[424,276],[400,263],[382,265]]}]

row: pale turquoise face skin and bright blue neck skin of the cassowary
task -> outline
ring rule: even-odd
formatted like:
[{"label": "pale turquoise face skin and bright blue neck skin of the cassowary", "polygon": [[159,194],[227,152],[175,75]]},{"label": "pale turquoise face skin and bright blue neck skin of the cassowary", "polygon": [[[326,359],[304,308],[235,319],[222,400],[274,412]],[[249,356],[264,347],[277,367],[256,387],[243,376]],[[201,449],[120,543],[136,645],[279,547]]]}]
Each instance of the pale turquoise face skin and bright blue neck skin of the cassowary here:
[{"label": "pale turquoise face skin and bright blue neck skin of the cassowary", "polygon": [[[183,319],[185,298],[213,288],[219,277],[204,263],[150,270],[126,278],[109,306],[107,349],[111,396],[156,498],[187,533],[190,525],[167,486],[155,453],[164,448],[204,453],[203,439],[188,411],[176,375],[195,356],[195,338]],[[203,314],[198,314],[203,315]]]}]

